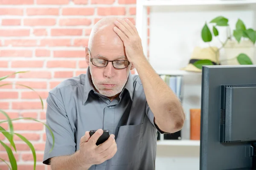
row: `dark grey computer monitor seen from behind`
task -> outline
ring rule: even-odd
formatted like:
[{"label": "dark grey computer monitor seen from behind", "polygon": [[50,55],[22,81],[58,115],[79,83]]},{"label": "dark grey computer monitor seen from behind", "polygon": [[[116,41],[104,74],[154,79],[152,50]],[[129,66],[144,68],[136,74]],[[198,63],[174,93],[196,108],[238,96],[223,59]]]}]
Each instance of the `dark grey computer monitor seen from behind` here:
[{"label": "dark grey computer monitor seen from behind", "polygon": [[256,169],[256,65],[202,68],[200,170]]}]

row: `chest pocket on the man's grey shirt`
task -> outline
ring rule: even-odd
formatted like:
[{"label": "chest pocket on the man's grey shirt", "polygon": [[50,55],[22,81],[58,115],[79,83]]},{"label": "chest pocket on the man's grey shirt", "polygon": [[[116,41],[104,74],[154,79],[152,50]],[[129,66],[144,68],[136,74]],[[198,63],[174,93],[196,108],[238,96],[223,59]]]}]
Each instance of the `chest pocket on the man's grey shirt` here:
[{"label": "chest pocket on the man's grey shirt", "polygon": [[117,152],[112,158],[112,165],[135,164],[140,161],[141,133],[143,124],[125,125],[118,128]]}]

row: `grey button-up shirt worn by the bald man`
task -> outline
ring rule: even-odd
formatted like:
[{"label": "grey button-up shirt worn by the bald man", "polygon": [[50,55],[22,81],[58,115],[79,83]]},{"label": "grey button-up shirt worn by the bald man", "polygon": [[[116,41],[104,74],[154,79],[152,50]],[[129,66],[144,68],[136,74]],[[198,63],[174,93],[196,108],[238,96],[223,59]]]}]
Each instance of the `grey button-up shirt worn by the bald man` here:
[{"label": "grey button-up shirt worn by the bald man", "polygon": [[89,71],[49,91],[46,123],[54,133],[55,145],[49,153],[52,136],[46,128],[43,163],[75,153],[85,131],[101,128],[115,135],[117,152],[89,170],[154,170],[157,130],[163,132],[154,124],[140,77],[130,73],[121,94],[110,101],[95,91]]}]

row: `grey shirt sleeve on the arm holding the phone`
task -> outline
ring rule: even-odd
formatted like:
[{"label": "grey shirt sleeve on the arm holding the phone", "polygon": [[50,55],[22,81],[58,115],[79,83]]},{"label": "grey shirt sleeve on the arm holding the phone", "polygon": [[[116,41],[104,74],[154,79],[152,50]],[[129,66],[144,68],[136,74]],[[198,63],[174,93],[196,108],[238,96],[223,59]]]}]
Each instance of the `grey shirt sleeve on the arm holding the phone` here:
[{"label": "grey shirt sleeve on the arm holding the phone", "polygon": [[46,144],[44,150],[43,164],[50,164],[50,158],[64,156],[75,153],[76,142],[74,133],[71,129],[63,101],[52,93],[47,98],[46,125],[52,130],[55,143],[53,144],[52,135],[46,127]]}]

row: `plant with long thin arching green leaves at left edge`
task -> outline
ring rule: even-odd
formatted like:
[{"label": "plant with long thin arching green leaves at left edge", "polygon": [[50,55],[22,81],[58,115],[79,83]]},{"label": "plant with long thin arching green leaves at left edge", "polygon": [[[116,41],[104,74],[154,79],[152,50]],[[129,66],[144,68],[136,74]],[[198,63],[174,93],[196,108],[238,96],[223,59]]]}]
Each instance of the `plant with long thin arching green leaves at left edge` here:
[{"label": "plant with long thin arching green leaves at left edge", "polygon": [[[27,71],[19,71],[19,72],[15,72],[15,73],[13,73],[13,74],[9,74],[9,75],[4,76],[4,77],[0,77],[0,81],[2,81],[3,79],[8,78],[8,77],[10,77],[10,76],[12,76],[12,75],[14,75],[14,74],[25,73],[25,72],[27,72]],[[13,83],[0,84],[0,87],[5,86],[5,85],[12,85],[12,84],[13,84]],[[22,85],[22,84],[15,84],[15,85],[23,86],[23,87],[29,88],[29,89],[32,90],[32,91],[35,91],[35,90],[33,90],[32,88],[30,88],[29,86],[26,86],[26,85]],[[37,93],[37,92],[35,91],[35,93]],[[38,94],[38,93],[37,93],[37,94]],[[41,96],[40,96],[39,94],[38,94],[38,96],[39,96],[39,98],[40,98],[40,100],[41,100],[42,109],[44,109],[43,100],[42,100],[42,98],[41,98]],[[4,122],[8,122],[8,127],[9,127],[9,131],[6,131],[6,130],[0,125],[0,132],[3,133],[3,135],[6,137],[6,139],[8,139],[8,141],[10,142],[10,145],[11,145],[11,146],[9,147],[6,143],[4,143],[4,142],[1,141],[1,140],[0,140],[0,144],[5,148],[5,150],[6,150],[6,152],[7,152],[8,157],[9,157],[9,163],[10,163],[11,166],[7,163],[6,160],[3,160],[3,159],[1,159],[1,158],[0,158],[0,159],[1,159],[3,162],[5,162],[11,170],[17,170],[17,161],[16,161],[16,159],[15,159],[15,156],[14,156],[13,151],[12,151],[12,148],[11,148],[11,147],[13,147],[13,149],[14,149],[15,152],[17,153],[16,147],[15,147],[15,142],[13,141],[13,136],[16,135],[16,136],[18,136],[20,139],[22,139],[23,142],[25,142],[25,143],[29,146],[29,148],[31,149],[32,155],[33,155],[33,159],[34,159],[34,170],[35,170],[35,167],[36,167],[36,153],[35,153],[35,148],[34,148],[33,144],[32,144],[31,142],[29,142],[29,140],[27,140],[24,136],[22,136],[22,135],[19,134],[19,133],[15,133],[15,132],[14,132],[12,122],[15,121],[15,120],[19,120],[19,119],[28,119],[28,120],[33,120],[33,121],[35,121],[35,122],[40,122],[40,123],[44,124],[44,125],[49,129],[49,131],[50,131],[50,133],[51,133],[51,135],[52,135],[52,139],[53,139],[53,145],[52,145],[52,148],[51,148],[50,152],[52,151],[52,149],[53,149],[53,147],[54,147],[54,135],[53,135],[53,133],[52,133],[52,130],[51,130],[51,129],[49,128],[49,126],[47,126],[44,122],[41,122],[41,121],[39,121],[39,120],[37,120],[37,119],[33,119],[33,118],[29,118],[29,117],[23,117],[23,118],[17,118],[17,119],[10,119],[9,115],[8,115],[5,111],[3,111],[2,109],[0,109],[0,113],[3,114],[4,116],[6,116],[6,120],[5,120],[5,121],[1,121],[0,124],[1,124],[1,123],[4,123]]]}]

